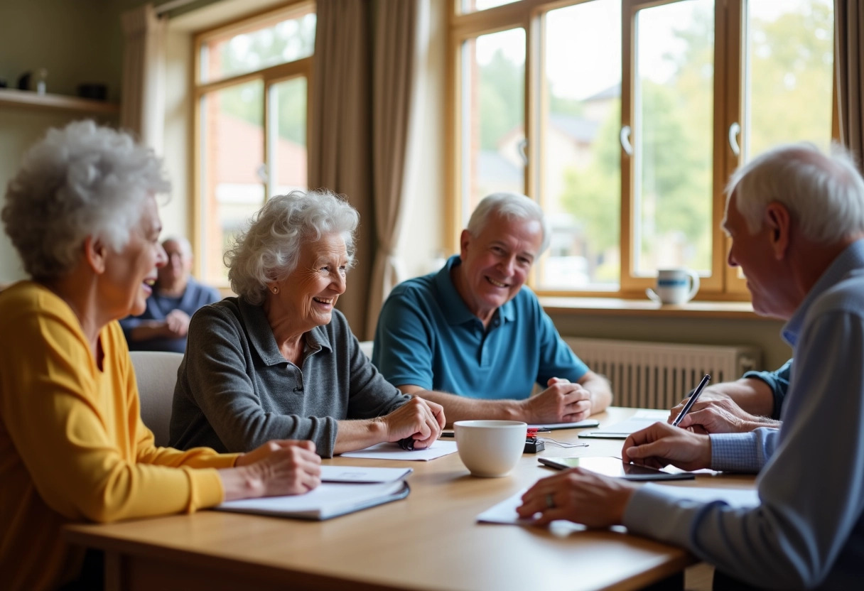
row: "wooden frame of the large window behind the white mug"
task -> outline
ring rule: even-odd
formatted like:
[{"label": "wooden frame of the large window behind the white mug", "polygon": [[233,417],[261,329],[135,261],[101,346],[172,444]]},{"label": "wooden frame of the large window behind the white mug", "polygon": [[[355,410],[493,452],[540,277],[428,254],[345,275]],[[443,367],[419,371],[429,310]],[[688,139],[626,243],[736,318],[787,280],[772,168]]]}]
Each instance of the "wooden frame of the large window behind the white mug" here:
[{"label": "wooden frame of the large window behind the white mug", "polygon": [[[543,206],[541,175],[541,155],[543,146],[542,124],[545,110],[540,108],[548,100],[544,94],[543,79],[543,28],[544,17],[550,10],[556,10],[591,0],[520,0],[487,10],[461,13],[462,0],[451,0],[448,16],[447,48],[447,145],[452,149],[447,162],[448,199],[445,203],[444,244],[458,251],[461,232],[461,183],[463,170],[463,148],[461,137],[461,97],[462,60],[461,48],[465,41],[480,35],[496,33],[507,29],[522,28],[526,38],[525,57],[525,97],[524,132],[529,149],[524,174],[524,193],[534,198],[539,196]],[[633,86],[635,75],[635,19],[638,10],[678,0],[621,0],[621,126],[635,128],[635,105]],[[717,0],[715,2],[715,84],[714,84],[714,122],[713,122],[713,162],[712,162],[712,255],[710,276],[702,277],[702,287],[696,299],[708,301],[748,301],[749,292],[739,270],[728,267],[727,252],[730,241],[721,230],[721,220],[726,205],[724,187],[729,175],[740,166],[742,155],[735,154],[730,143],[730,130],[734,125],[744,124],[744,96],[742,85],[745,72],[746,39],[746,0]],[[834,76],[833,96],[836,96]],[[836,100],[831,105],[831,137],[837,141],[839,124]],[[740,136],[743,137],[743,136]],[[743,150],[741,150],[743,151]],[[633,260],[633,236],[637,220],[634,212],[634,164],[635,159],[620,149],[621,158],[621,195],[620,195],[620,280],[618,290],[564,291],[536,289],[536,278],[530,277],[529,284],[535,287],[539,296],[565,297],[613,297],[625,299],[644,299],[645,289],[656,283],[653,276],[638,276]]]}]

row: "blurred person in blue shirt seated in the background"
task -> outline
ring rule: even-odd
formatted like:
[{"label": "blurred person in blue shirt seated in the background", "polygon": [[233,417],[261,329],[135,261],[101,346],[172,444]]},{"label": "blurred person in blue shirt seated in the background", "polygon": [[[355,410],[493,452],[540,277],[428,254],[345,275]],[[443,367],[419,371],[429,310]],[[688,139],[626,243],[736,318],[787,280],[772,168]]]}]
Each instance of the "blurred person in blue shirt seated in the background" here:
[{"label": "blurred person in blue shirt seated in the background", "polygon": [[153,293],[142,315],[120,321],[130,351],[186,351],[189,319],[198,308],[219,302],[219,292],[190,275],[192,246],[186,238],[166,238],[168,264],[157,273]]}]

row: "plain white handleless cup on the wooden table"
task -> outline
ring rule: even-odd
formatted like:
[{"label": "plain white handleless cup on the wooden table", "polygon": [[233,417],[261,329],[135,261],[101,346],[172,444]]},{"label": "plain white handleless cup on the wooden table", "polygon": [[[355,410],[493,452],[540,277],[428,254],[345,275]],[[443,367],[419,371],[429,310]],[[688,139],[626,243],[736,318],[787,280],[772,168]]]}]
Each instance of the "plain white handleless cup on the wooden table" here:
[{"label": "plain white handleless cup on the wooden table", "polygon": [[525,448],[528,424],[518,421],[456,421],[456,449],[474,476],[506,476]]}]

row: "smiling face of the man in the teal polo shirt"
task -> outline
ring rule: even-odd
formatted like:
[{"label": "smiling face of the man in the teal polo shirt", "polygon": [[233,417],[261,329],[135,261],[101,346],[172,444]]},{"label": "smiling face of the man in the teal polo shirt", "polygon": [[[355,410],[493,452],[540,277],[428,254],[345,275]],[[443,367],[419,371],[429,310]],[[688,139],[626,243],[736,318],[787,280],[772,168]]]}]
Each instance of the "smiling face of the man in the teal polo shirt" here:
[{"label": "smiling face of the man in the teal polo shirt", "polygon": [[478,236],[462,231],[462,264],[454,270],[456,290],[484,324],[516,297],[543,244],[537,220],[492,214]]}]

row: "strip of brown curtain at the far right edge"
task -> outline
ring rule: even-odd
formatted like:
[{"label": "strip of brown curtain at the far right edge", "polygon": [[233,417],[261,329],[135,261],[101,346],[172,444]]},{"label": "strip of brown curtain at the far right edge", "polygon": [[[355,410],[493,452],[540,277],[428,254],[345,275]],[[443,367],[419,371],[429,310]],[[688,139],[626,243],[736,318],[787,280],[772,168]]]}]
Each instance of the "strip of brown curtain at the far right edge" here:
[{"label": "strip of brown curtain at the far right edge", "polygon": [[864,167],[864,7],[859,0],[834,1],[837,118],[840,140]]}]

